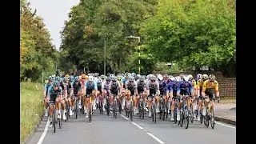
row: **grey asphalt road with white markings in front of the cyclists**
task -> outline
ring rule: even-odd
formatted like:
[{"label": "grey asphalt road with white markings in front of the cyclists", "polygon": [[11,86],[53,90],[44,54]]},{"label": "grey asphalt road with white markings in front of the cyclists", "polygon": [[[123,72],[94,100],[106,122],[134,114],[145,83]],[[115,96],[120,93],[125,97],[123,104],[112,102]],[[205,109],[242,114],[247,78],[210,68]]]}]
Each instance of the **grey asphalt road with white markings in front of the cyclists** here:
[{"label": "grey asphalt road with white markings in front of the cyclists", "polygon": [[[157,117],[158,118],[158,117]],[[170,118],[170,117],[169,117]],[[43,119],[38,130],[28,138],[29,144],[156,144],[156,143],[190,143],[190,144],[234,144],[236,143],[236,128],[218,122],[214,130],[201,125],[198,121],[190,123],[188,129],[180,127],[174,122],[152,118],[140,119],[134,116],[130,122],[123,112],[118,118],[113,114],[99,114],[96,110],[93,121],[79,114],[78,119],[70,116],[68,122],[62,123],[62,129],[48,126],[47,118]],[[47,129],[48,128],[48,129]]]}]

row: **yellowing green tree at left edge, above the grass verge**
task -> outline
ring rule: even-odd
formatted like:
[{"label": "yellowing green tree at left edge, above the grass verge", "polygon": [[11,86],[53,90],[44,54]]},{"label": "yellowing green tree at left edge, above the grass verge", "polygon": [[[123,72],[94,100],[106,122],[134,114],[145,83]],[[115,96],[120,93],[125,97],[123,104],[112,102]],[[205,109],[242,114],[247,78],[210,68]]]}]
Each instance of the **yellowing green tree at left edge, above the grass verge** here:
[{"label": "yellowing green tree at left edge, above the grass verge", "polygon": [[42,18],[36,16],[30,8],[30,3],[20,2],[20,80],[32,78],[33,81],[42,78],[42,70],[52,71],[54,68],[54,47],[50,42],[49,31],[46,30]]}]

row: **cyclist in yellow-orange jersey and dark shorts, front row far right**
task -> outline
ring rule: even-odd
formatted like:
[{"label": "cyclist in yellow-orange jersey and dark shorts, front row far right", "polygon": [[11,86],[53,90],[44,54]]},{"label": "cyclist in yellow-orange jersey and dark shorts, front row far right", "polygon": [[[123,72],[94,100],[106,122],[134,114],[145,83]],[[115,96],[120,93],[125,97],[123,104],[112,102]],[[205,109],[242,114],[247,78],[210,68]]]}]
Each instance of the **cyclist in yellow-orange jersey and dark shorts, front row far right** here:
[{"label": "cyclist in yellow-orange jersey and dark shorts, front row far right", "polygon": [[[208,106],[210,102],[210,98],[214,98],[214,92],[216,94],[216,97],[219,97],[219,91],[218,91],[218,82],[215,80],[214,74],[210,74],[208,79],[203,82],[202,84],[202,97],[204,98],[206,94],[209,96],[206,98],[206,101],[204,102],[204,107],[202,110],[202,114],[206,116],[206,106]],[[212,102],[212,105],[214,107],[214,102]]]}]

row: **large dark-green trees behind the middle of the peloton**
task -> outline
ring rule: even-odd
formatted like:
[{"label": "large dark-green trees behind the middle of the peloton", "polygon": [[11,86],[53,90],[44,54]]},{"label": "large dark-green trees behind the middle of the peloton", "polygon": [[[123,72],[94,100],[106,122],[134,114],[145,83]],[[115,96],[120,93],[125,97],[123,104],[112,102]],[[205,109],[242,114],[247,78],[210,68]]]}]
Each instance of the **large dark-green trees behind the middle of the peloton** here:
[{"label": "large dark-green trees behind the middle of the peloton", "polygon": [[[74,6],[70,20],[62,30],[62,50],[67,51],[66,61],[82,69],[101,71],[106,41],[106,64],[112,72],[124,72],[134,68],[138,39],[142,22],[154,14],[156,0],[83,0]],[[129,44],[125,43],[129,41]],[[150,58],[149,55],[145,59]],[[64,61],[63,61],[64,62]],[[145,60],[147,62],[147,60]],[[132,66],[132,67],[130,67]],[[143,70],[147,66],[143,65]],[[138,68],[138,66],[137,66]],[[138,70],[138,69],[137,69]],[[147,70],[146,70],[147,71]]]}]

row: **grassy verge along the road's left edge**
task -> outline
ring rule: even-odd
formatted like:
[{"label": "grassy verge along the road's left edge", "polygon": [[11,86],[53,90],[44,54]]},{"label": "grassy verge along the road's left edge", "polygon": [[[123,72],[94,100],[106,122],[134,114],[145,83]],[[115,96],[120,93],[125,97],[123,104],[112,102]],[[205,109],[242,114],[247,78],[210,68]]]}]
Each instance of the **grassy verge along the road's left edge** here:
[{"label": "grassy verge along the road's left edge", "polygon": [[[38,86],[38,88],[37,88]],[[34,126],[39,122],[43,113],[42,104],[43,86],[40,83],[20,82],[21,94],[21,135],[20,143],[34,130]]]}]

